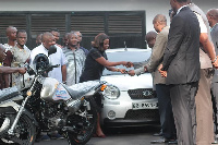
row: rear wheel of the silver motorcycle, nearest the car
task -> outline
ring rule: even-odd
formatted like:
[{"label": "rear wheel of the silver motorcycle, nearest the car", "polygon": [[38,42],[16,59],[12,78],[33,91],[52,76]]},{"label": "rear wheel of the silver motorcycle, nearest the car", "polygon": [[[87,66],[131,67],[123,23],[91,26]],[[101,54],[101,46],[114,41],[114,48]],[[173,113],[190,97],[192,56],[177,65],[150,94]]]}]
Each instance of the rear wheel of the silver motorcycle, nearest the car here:
[{"label": "rear wheel of the silver motorcycle, nearest the car", "polygon": [[97,110],[95,100],[89,98],[88,107],[81,108],[77,112],[70,116],[68,125],[74,128],[74,131],[66,132],[66,138],[70,145],[85,145],[96,130],[97,125]]}]

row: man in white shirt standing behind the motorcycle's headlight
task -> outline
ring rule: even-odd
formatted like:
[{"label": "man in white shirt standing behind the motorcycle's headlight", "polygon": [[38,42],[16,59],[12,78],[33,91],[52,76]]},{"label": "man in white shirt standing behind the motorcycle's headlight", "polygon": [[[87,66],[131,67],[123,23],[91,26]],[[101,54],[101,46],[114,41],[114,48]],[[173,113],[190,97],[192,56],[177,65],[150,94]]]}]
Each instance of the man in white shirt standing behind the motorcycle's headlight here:
[{"label": "man in white shirt standing behind the motorcycle's headlight", "polygon": [[41,36],[41,45],[34,48],[31,52],[31,65],[38,53],[45,53],[48,56],[48,49],[51,46],[56,46],[57,52],[49,56],[49,60],[52,65],[60,64],[59,68],[55,68],[48,73],[49,77],[56,78],[59,82],[65,82],[66,78],[66,59],[62,52],[62,49],[56,45],[55,37],[51,33],[44,33]]}]

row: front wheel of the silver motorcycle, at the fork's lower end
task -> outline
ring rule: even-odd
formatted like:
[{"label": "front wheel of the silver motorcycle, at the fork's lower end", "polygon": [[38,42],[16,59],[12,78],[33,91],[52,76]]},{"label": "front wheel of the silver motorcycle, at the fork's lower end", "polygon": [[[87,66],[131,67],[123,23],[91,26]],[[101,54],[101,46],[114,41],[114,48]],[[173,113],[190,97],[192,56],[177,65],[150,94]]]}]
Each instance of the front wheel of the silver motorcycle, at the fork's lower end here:
[{"label": "front wheel of the silver motorcycle, at the fork's lower end", "polygon": [[[8,134],[14,118],[15,114],[0,114],[0,130],[4,129],[0,132],[0,145],[33,145],[36,138],[36,128],[26,114],[21,116],[14,129],[14,134]],[[5,122],[10,123],[7,129]]]}]

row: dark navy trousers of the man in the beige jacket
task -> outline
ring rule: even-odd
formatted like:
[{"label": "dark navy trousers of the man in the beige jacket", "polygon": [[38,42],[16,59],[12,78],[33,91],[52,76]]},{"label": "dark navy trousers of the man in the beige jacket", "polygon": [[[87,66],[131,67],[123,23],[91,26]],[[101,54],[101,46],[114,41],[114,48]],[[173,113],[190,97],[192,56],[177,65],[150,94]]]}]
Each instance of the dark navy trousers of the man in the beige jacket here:
[{"label": "dark navy trousers of the man in the beige jacket", "polygon": [[162,136],[166,138],[175,138],[177,131],[170,99],[170,87],[165,84],[157,84],[156,93],[158,98]]}]

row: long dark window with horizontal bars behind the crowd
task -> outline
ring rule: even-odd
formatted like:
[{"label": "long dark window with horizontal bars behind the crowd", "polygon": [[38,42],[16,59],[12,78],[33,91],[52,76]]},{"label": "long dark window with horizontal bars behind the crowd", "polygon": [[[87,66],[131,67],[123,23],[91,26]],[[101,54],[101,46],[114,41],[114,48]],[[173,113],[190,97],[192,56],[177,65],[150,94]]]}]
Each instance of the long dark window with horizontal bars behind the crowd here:
[{"label": "long dark window with horizontal bars behind the crowd", "polygon": [[111,48],[124,47],[124,41],[128,47],[146,48],[145,11],[0,12],[0,20],[2,44],[7,43],[5,28],[12,25],[26,29],[31,49],[35,47],[37,34],[51,28],[58,28],[61,37],[70,31],[80,31],[83,34],[82,46],[87,49],[98,33],[110,36]]}]

